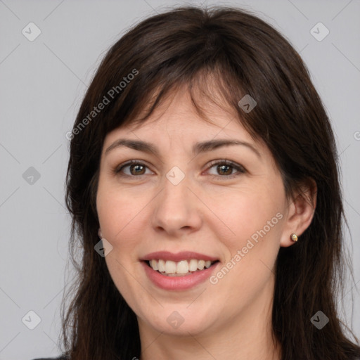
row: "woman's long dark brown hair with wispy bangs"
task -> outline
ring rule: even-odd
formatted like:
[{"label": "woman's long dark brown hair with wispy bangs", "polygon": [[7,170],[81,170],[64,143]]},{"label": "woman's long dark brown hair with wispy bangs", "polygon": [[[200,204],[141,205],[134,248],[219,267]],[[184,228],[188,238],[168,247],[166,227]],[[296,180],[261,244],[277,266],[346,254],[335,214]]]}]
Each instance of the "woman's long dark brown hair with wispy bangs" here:
[{"label": "woman's long dark brown hair with wispy bangs", "polygon": [[[214,98],[210,79],[226,104]],[[129,122],[143,123],[170,91],[184,84],[203,117],[196,94],[237,111],[238,121],[271,150],[290,198],[304,181],[317,184],[311,225],[295,245],[281,248],[276,260],[272,326],[282,359],[359,356],[360,347],[348,340],[349,329],[338,317],[337,296],[349,259],[343,249],[335,141],[306,66],[279,32],[252,13],[182,7],[143,20],[111,47],[70,134],[66,203],[77,279],[68,292],[71,302],[65,308],[64,298],[62,310],[70,359],[141,355],[136,316],[110,278],[105,259],[94,251],[101,150],[108,132]],[[238,105],[245,94],[257,102],[250,113]],[[146,115],[139,117],[143,110]],[[310,321],[319,310],[329,319],[321,330]]]}]

